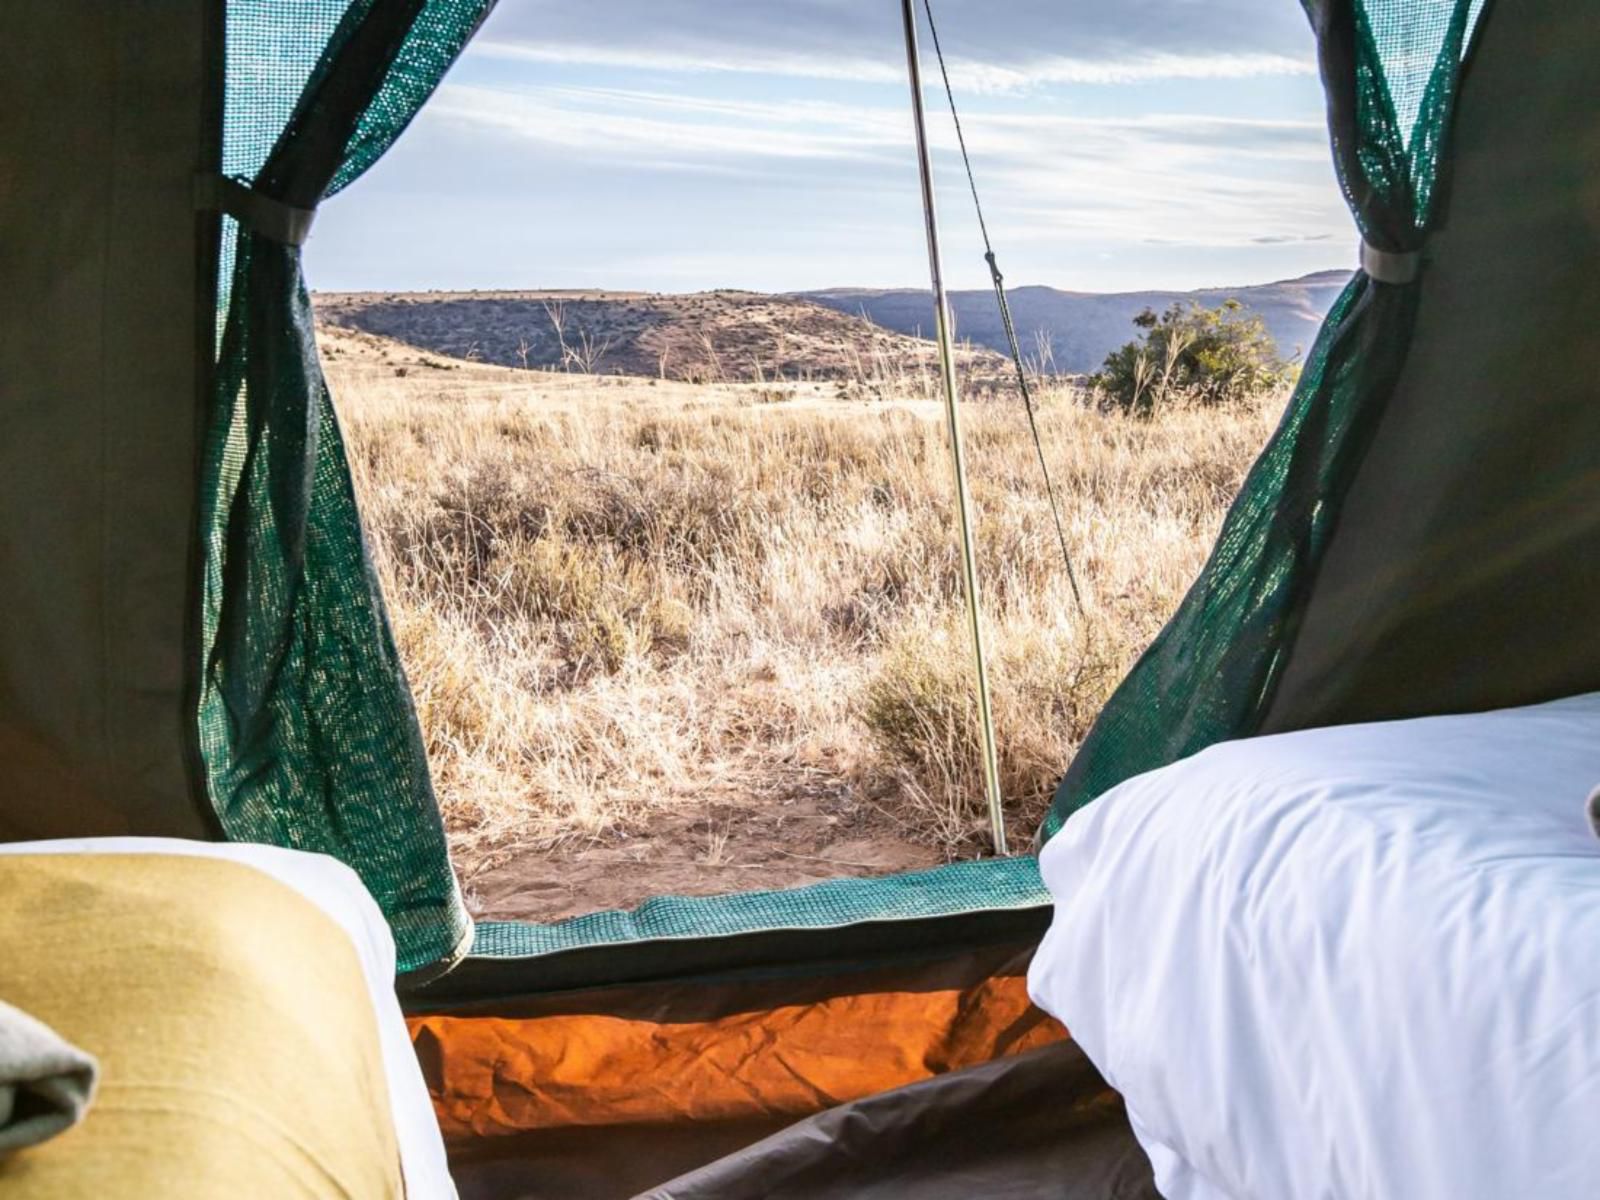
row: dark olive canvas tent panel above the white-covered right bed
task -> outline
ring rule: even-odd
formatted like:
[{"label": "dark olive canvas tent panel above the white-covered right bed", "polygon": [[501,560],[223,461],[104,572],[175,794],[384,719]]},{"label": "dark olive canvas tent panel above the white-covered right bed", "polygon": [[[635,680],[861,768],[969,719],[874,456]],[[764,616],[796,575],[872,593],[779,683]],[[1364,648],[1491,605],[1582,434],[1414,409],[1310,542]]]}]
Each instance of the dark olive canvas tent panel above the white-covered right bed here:
[{"label": "dark olive canvas tent panel above the white-covered right bed", "polygon": [[1525,0],[1472,58],[1405,371],[1262,731],[1600,688],[1597,56]]}]

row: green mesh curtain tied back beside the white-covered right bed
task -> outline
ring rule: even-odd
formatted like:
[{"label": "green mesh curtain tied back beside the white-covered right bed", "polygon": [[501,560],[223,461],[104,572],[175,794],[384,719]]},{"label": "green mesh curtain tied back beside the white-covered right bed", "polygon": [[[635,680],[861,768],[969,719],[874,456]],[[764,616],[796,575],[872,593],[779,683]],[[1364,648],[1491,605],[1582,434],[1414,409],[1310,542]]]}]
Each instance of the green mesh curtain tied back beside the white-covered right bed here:
[{"label": "green mesh curtain tied back beside the white-covered right bed", "polygon": [[[1334,165],[1378,250],[1422,250],[1462,53],[1482,8],[1483,0],[1306,0]],[[1405,363],[1416,301],[1416,283],[1357,274],[1334,302],[1200,578],[1106,704],[1042,837],[1123,779],[1256,731],[1341,499]]]}]

